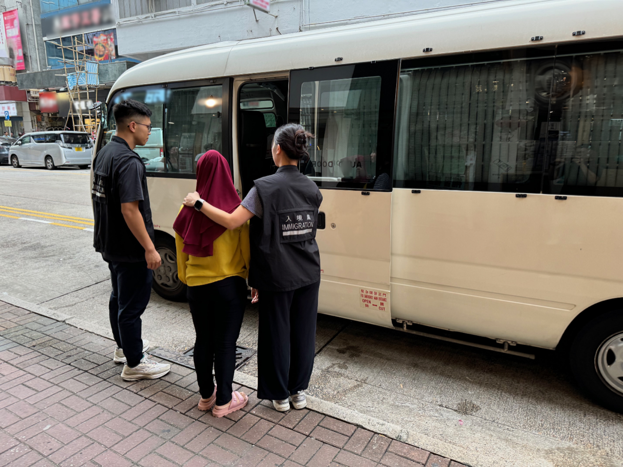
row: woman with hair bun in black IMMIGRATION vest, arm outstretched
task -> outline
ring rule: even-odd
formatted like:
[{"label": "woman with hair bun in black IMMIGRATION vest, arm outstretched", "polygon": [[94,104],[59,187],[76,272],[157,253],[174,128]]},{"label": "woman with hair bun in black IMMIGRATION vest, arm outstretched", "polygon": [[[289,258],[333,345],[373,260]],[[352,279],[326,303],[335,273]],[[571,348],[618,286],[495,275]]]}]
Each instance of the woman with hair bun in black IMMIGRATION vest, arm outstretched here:
[{"label": "woman with hair bun in black IMMIGRATION vest, arm outstretched", "polygon": [[[310,137],[295,123],[280,126],[272,144],[277,172],[255,180],[231,214],[207,202],[201,205],[203,214],[227,229],[251,219],[249,285],[254,298],[260,297],[257,397],[272,399],[280,412],[290,408],[290,401],[294,408],[307,405],[304,391],[315,353],[320,287],[315,237],[322,195],[297,167],[308,156]],[[189,193],[184,204],[198,201],[197,192]]]}]

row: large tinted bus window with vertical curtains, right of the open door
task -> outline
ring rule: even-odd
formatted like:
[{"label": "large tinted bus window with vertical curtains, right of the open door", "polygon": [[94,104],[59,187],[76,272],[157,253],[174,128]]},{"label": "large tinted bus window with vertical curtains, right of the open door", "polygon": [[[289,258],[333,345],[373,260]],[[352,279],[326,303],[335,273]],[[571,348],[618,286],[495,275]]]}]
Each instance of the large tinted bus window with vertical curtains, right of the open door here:
[{"label": "large tinted bus window with vertical curtains, right of the open door", "polygon": [[403,65],[396,186],[541,191],[554,60],[511,53],[508,60]]}]

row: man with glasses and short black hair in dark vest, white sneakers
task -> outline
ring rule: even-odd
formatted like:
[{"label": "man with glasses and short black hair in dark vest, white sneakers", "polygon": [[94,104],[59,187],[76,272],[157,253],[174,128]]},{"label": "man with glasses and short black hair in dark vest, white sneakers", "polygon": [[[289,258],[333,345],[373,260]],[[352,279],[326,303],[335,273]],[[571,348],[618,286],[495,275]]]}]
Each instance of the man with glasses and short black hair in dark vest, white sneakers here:
[{"label": "man with glasses and short black hair in dark vest, white sneakers", "polygon": [[154,247],[145,164],[134,152],[151,133],[151,110],[135,100],[113,107],[117,129],[93,163],[91,189],[95,229],[93,246],[108,263],[112,293],[110,326],[117,341],[113,361],[125,364],[128,381],[155,379],[171,366],[147,358],[149,341],[141,338],[141,314],[150,301],[152,270],[162,260]]}]

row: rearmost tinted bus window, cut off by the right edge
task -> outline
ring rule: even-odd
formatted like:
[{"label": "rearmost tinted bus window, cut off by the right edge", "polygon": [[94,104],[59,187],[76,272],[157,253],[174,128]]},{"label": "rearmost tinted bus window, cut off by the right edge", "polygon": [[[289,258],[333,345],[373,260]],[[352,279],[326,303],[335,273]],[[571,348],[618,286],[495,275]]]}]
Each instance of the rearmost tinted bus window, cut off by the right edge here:
[{"label": "rearmost tinted bus window, cut off by the right edge", "polygon": [[559,54],[545,192],[623,196],[623,52]]}]

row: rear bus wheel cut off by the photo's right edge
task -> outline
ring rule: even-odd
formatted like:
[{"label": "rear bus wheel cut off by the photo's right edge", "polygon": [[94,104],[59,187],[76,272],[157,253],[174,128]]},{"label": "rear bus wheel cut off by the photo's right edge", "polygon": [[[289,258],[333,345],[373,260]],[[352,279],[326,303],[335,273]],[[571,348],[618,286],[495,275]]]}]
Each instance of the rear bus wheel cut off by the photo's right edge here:
[{"label": "rear bus wheel cut off by the photo's right edge", "polygon": [[589,397],[623,413],[623,310],[601,314],[571,344],[571,371]]}]

